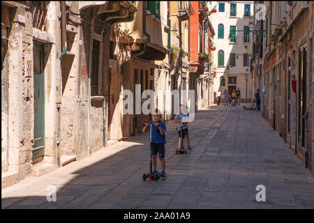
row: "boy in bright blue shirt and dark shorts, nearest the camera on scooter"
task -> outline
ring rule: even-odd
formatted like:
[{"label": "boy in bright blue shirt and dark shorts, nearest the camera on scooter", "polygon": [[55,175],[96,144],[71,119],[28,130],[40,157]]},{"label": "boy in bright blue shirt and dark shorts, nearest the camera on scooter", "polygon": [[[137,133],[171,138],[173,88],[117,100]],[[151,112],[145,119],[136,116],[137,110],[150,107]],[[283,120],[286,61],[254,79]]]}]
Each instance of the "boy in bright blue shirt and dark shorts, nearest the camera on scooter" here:
[{"label": "boy in bright blue shirt and dark shorts, nearest the camera on scooter", "polygon": [[153,120],[149,123],[145,123],[143,125],[142,132],[146,132],[147,129],[152,125],[151,130],[151,152],[152,152],[152,162],[153,162],[153,173],[158,173],[157,169],[157,153],[159,155],[160,165],[161,165],[161,173],[160,178],[165,178],[165,131],[167,131],[165,123],[160,121],[160,114],[158,114],[158,110],[156,110],[155,114],[151,115]]}]

